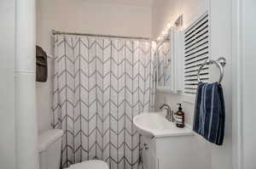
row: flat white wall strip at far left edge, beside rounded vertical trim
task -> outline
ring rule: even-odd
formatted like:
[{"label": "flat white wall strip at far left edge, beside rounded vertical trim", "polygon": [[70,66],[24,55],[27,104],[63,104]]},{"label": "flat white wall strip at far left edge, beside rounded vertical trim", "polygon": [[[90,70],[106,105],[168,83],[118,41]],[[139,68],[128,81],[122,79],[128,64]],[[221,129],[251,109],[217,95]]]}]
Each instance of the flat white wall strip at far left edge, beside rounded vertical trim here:
[{"label": "flat white wall strip at far left edge, beside rounded vertical trim", "polygon": [[0,3],[0,168],[15,169],[15,0]]}]

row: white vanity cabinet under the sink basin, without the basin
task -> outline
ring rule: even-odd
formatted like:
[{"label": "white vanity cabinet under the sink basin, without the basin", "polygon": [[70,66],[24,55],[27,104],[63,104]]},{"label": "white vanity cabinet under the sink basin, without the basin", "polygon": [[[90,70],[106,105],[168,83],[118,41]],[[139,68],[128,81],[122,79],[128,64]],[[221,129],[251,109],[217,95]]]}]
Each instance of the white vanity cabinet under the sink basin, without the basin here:
[{"label": "white vanity cabinet under the sink basin, without the basin", "polygon": [[196,168],[196,149],[192,134],[150,138],[142,136],[143,168],[188,169]]}]

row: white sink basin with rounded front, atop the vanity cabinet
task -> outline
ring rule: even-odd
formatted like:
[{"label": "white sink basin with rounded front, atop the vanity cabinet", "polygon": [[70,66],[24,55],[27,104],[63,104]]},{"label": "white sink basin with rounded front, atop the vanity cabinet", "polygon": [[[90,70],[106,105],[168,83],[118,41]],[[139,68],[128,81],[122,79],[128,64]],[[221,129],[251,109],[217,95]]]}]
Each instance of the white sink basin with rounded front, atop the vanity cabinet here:
[{"label": "white sink basin with rounded front, atop the vanity cabinet", "polygon": [[136,115],[133,123],[137,127],[137,131],[144,136],[149,137],[169,137],[193,135],[190,128],[178,128],[174,122],[167,121],[165,112],[150,112]]}]

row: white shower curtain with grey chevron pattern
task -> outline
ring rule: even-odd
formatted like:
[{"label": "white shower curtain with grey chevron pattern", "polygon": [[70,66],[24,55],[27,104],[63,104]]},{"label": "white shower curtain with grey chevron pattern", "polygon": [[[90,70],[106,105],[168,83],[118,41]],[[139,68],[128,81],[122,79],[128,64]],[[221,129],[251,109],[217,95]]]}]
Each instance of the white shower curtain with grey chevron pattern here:
[{"label": "white shower curtain with grey chevron pattern", "polygon": [[154,67],[152,42],[55,36],[51,124],[64,130],[61,167],[99,159],[137,168],[132,118],[154,108]]}]

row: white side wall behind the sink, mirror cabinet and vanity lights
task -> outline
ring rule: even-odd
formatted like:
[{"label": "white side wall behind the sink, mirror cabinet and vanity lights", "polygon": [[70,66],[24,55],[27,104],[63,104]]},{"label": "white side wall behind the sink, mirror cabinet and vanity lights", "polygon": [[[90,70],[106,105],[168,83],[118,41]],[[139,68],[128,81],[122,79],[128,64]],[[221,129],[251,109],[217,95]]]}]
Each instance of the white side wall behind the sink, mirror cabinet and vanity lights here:
[{"label": "white side wall behind the sink, mirror cabinet and vanity lights", "polygon": [[[152,32],[153,37],[156,38],[160,35],[161,31],[166,28],[168,23],[174,23],[180,14],[183,14],[184,28],[187,27],[195,16],[202,14],[208,7],[207,0],[160,0],[155,1],[152,8]],[[170,94],[170,93],[156,93],[156,109],[161,104],[167,103],[171,105],[173,110],[177,110],[177,103],[183,104],[183,111],[185,112],[185,122],[191,127],[194,118],[194,107],[191,103],[191,98],[184,97],[183,95]],[[193,100],[194,101],[194,100]],[[200,136],[195,136],[193,144],[197,152],[195,152],[195,163],[198,164],[198,169],[212,168],[212,152],[211,146]]]}]

